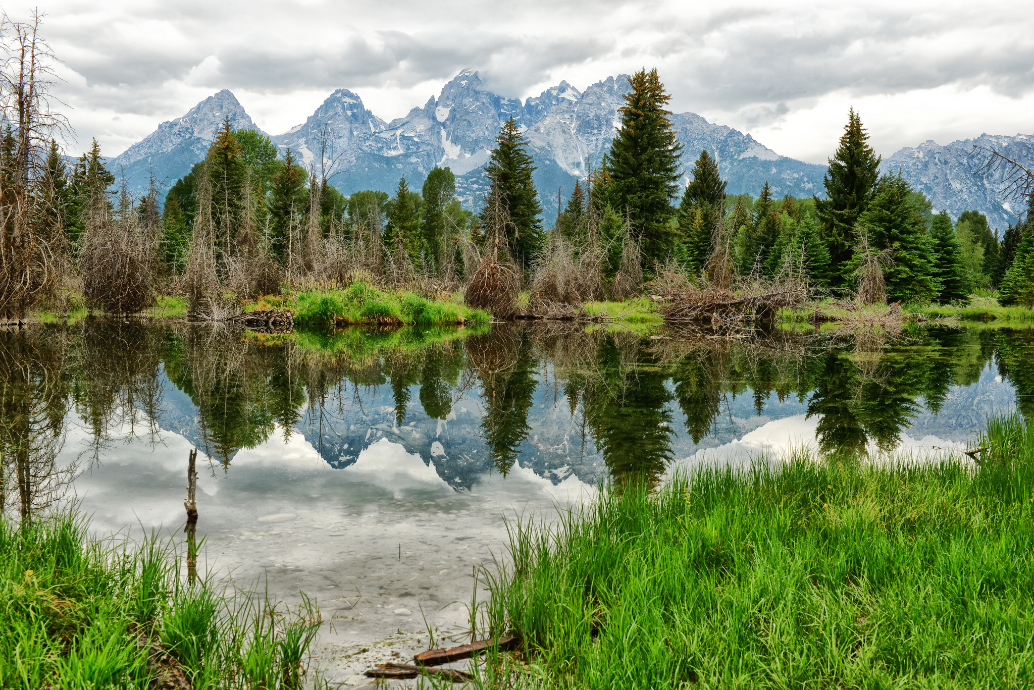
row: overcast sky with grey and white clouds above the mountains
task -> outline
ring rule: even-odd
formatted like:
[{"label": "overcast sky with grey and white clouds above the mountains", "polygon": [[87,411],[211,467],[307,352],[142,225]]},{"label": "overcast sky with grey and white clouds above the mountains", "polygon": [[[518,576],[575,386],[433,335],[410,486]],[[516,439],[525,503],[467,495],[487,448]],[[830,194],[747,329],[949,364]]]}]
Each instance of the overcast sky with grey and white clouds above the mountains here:
[{"label": "overcast sky with grey and white clouds above the mountains", "polygon": [[[27,11],[5,7],[11,19]],[[41,0],[78,141],[115,155],[219,89],[270,133],[339,87],[385,120],[463,68],[526,97],[657,67],[672,110],[825,162],[848,108],[877,151],[1034,132],[1021,3]]]}]

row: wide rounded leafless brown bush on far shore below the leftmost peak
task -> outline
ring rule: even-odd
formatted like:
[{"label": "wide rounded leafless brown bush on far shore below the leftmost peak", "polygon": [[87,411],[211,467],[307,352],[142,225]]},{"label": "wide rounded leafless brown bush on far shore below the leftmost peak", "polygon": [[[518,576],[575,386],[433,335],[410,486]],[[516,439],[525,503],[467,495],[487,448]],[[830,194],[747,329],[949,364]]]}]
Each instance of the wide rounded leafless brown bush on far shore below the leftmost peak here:
[{"label": "wide rounded leafless brown bush on far shore below the leftmost peak", "polygon": [[118,216],[112,217],[102,191],[90,200],[80,267],[83,296],[108,313],[136,313],[154,305],[157,228],[141,221],[123,182]]}]

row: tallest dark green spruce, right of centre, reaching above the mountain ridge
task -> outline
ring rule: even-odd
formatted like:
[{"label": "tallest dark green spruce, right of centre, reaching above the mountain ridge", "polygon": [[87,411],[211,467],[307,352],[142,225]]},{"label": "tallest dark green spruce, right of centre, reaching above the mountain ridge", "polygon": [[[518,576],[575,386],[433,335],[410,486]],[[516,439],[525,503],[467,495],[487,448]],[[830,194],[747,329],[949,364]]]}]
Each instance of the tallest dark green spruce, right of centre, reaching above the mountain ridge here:
[{"label": "tallest dark green spruce, right of centre, reaching above the mountain ridge", "polygon": [[621,127],[610,145],[608,201],[628,214],[642,238],[646,265],[662,261],[673,246],[672,199],[678,190],[682,146],[664,109],[671,98],[657,69],[629,79],[631,90],[618,113]]}]

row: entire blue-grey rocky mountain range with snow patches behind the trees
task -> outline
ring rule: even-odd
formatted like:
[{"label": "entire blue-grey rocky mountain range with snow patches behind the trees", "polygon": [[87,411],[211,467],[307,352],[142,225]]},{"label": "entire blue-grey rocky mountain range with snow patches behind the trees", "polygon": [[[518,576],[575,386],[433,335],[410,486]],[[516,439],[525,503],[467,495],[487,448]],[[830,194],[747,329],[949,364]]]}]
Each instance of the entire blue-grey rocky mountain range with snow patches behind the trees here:
[{"label": "entire blue-grey rocky mountain range with snow patches behind the trees", "polygon": [[[281,150],[292,149],[307,167],[322,164],[331,182],[345,194],[360,189],[392,192],[399,178],[420,188],[435,166],[457,176],[457,191],[467,208],[477,208],[487,191],[482,170],[503,122],[513,117],[528,141],[538,170],[535,182],[543,214],[555,217],[559,202],[575,180],[599,166],[619,125],[618,108],[628,92],[627,76],[607,79],[579,91],[567,82],[521,102],[489,91],[478,72],[464,70],[404,117],[385,122],[366,109],[362,98],[338,89],[303,123],[273,137]],[[235,127],[257,128],[226,90],[194,107],[181,118],[163,122],[142,142],[118,156],[112,170],[122,171],[134,193],[147,188],[148,172],[171,186],[201,160],[225,116]],[[694,113],[672,115],[683,146],[688,174],[706,149],[718,160],[729,193],[757,196],[765,181],[777,197],[823,192],[826,167],[782,156],[731,127],[712,124]],[[938,146],[926,142],[905,148],[884,160],[930,197],[937,209],[953,217],[968,209],[987,215],[1004,229],[1013,211],[998,194],[999,176],[976,174],[982,156],[973,145],[997,146],[1022,161],[1034,161],[1034,136],[989,137]],[[322,156],[321,156],[322,152]],[[688,181],[688,180],[687,180]]]}]

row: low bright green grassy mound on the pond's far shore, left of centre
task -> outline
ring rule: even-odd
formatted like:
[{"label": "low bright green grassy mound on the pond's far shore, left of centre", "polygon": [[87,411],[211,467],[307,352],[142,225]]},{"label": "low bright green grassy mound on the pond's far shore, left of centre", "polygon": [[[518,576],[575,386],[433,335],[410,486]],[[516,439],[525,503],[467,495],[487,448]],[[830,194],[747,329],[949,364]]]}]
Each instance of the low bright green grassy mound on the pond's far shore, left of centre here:
[{"label": "low bright green grassy mound on the pond's far shore, left of centre", "polygon": [[270,308],[290,310],[295,323],[301,326],[332,326],[335,321],[381,325],[491,321],[487,312],[452,300],[432,301],[415,293],[384,291],[366,282],[355,282],[343,290],[267,296],[244,310]]}]

